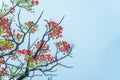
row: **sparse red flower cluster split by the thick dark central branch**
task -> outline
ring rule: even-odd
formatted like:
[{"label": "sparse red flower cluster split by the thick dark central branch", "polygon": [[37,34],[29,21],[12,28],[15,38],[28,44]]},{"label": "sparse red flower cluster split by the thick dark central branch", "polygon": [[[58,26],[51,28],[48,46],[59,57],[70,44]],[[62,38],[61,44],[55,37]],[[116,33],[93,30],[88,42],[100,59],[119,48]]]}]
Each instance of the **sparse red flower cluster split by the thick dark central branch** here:
[{"label": "sparse red flower cluster split by the thick dark central branch", "polygon": [[[34,44],[34,48],[38,49],[42,44],[42,40],[38,41],[36,44]],[[49,45],[43,44],[42,48],[40,49],[40,53],[47,53],[49,51]]]}]

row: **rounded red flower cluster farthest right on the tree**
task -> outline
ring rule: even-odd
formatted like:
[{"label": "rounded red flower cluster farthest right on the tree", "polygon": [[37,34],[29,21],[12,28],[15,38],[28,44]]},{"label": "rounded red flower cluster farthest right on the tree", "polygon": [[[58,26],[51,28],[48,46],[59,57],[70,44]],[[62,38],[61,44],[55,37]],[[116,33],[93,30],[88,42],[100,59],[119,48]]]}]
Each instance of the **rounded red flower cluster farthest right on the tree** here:
[{"label": "rounded red flower cluster farthest right on the tree", "polygon": [[60,52],[64,52],[64,54],[70,51],[70,44],[66,41],[57,42],[56,47]]}]

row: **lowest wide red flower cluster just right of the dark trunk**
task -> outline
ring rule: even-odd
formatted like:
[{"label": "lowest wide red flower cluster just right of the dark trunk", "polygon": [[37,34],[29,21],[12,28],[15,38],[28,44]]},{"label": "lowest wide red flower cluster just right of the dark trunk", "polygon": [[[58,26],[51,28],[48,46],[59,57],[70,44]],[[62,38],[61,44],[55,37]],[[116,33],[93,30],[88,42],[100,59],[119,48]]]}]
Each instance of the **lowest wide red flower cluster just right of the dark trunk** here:
[{"label": "lowest wide red flower cluster just right of the dark trunk", "polygon": [[44,54],[41,54],[40,57],[39,57],[39,60],[41,62],[46,62],[46,63],[49,63],[49,62],[53,62],[54,61],[54,58],[51,54],[48,54],[48,53],[44,53]]}]

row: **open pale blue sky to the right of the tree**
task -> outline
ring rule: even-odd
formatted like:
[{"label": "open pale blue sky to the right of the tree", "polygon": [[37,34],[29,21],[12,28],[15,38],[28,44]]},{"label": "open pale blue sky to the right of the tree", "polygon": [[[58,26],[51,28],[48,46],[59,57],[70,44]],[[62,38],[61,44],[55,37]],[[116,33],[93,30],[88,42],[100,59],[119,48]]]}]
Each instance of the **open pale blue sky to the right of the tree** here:
[{"label": "open pale blue sky to the right of the tree", "polygon": [[120,0],[40,0],[36,11],[22,15],[44,11],[42,19],[56,21],[66,15],[63,40],[75,44],[64,61],[73,68],[57,67],[53,80],[120,80]]}]

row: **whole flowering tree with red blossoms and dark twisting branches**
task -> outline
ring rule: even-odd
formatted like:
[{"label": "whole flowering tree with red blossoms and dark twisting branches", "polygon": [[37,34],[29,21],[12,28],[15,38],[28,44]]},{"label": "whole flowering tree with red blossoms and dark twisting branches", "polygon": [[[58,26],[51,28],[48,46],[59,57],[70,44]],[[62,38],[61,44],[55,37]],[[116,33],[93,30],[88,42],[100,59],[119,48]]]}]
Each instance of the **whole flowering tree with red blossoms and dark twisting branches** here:
[{"label": "whole flowering tree with red blossoms and dark twisting branches", "polygon": [[[10,0],[10,5],[2,3],[0,9],[0,80],[31,80],[35,76],[54,75],[56,66],[63,66],[60,61],[71,57],[73,45],[67,41],[58,41],[62,37],[63,27],[60,22],[44,20],[45,31],[41,38],[35,41],[31,36],[39,29],[39,20],[20,20],[21,11],[24,9],[34,13],[34,6],[39,5],[38,0]],[[17,10],[19,9],[19,11]],[[17,19],[15,18],[17,14]],[[25,14],[25,13],[24,13]],[[33,38],[33,37],[32,37]],[[52,52],[51,43],[56,50]],[[22,46],[25,45],[25,46]],[[27,79],[28,80],[28,79]]]}]

